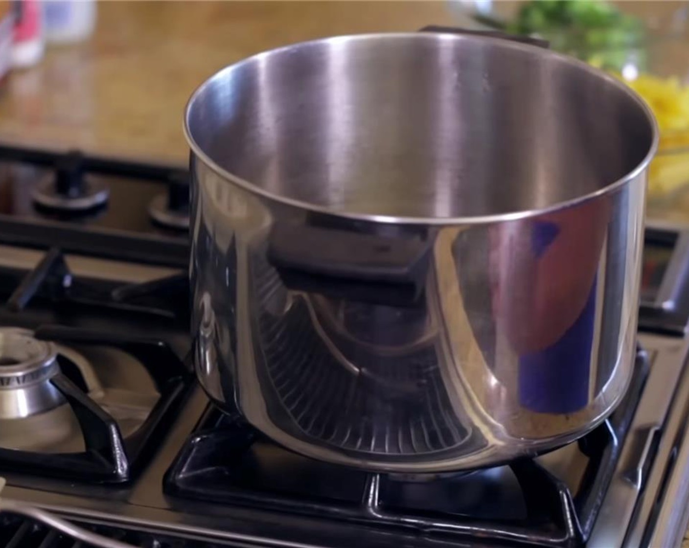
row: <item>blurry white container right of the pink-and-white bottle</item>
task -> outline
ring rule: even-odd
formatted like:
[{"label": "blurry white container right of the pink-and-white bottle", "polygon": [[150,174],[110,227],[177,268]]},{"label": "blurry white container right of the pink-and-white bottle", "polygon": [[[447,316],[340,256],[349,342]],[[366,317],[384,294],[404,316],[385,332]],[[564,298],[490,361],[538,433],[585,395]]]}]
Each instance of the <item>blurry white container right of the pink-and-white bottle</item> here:
[{"label": "blurry white container right of the pink-and-white bottle", "polygon": [[43,21],[48,43],[87,39],[96,26],[95,0],[44,0]]}]

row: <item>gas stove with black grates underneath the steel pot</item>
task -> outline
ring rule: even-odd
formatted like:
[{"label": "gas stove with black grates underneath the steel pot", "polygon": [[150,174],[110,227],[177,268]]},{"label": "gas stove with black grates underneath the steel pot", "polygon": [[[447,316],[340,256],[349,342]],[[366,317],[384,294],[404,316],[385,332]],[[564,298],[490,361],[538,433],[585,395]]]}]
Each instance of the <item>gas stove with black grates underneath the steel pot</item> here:
[{"label": "gas stove with black grates underneath the steel pot", "polygon": [[274,445],[196,384],[185,170],[0,161],[0,500],[39,509],[0,513],[1,546],[88,546],[41,511],[106,548],[679,544],[689,227],[646,230],[635,373],[603,425],[491,469],[367,474]]}]

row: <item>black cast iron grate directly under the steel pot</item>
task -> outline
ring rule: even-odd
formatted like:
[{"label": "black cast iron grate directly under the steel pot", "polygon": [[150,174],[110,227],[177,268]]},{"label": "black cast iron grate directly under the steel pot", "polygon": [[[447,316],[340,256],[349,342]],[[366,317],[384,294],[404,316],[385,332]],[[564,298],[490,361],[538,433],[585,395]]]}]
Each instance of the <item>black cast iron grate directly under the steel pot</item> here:
[{"label": "black cast iron grate directly under the steel pot", "polygon": [[428,538],[578,547],[593,529],[647,374],[648,357],[639,351],[624,402],[577,443],[586,469],[574,491],[531,459],[423,481],[368,474],[292,454],[215,409],[208,410],[168,471],[165,491],[400,532],[413,529]]}]

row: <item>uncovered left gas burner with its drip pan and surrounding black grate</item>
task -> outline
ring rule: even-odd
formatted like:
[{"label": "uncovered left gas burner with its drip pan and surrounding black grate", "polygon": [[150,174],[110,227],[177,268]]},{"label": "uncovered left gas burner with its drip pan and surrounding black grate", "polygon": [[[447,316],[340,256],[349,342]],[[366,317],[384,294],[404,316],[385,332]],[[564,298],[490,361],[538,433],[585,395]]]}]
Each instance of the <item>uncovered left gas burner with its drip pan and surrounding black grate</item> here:
[{"label": "uncovered left gas burner with its drip pan and surrounding black grate", "polygon": [[129,480],[187,379],[161,341],[72,327],[0,328],[0,467]]}]

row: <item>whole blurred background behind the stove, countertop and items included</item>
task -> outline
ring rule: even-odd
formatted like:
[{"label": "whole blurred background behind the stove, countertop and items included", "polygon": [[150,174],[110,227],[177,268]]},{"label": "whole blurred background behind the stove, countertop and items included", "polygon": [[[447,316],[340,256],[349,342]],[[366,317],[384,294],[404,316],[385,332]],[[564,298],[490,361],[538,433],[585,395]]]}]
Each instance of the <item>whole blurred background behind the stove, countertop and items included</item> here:
[{"label": "whole blurred background behind the stove, countertop and items included", "polygon": [[187,157],[181,119],[189,94],[250,54],[429,24],[542,37],[624,79],[651,104],[663,135],[649,207],[689,220],[686,1],[32,0],[2,6],[0,141],[179,165]]}]

